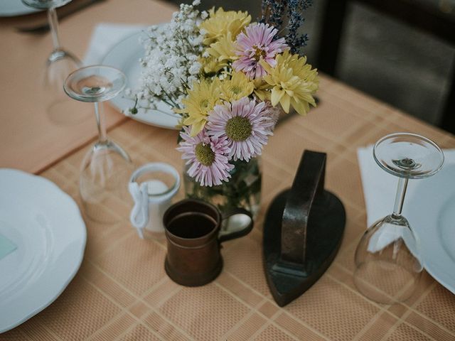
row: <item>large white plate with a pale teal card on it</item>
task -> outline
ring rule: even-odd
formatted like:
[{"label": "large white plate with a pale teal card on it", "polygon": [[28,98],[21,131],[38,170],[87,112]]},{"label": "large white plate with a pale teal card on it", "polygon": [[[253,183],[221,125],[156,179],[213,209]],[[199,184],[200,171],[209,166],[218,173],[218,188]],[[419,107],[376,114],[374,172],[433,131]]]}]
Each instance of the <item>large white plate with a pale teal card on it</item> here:
[{"label": "large white plate with a pale teal card on it", "polygon": [[0,168],[0,234],[17,247],[0,259],[5,332],[60,296],[82,262],[87,232],[76,203],[57,185]]}]

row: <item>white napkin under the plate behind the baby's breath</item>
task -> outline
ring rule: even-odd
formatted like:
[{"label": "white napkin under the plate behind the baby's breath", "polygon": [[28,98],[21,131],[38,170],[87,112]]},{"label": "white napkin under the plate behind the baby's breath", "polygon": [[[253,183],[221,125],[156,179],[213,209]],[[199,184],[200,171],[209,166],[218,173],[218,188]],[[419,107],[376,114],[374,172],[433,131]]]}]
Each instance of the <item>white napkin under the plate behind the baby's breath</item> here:
[{"label": "white napkin under the plate behind the baby's breath", "polygon": [[84,65],[101,64],[105,55],[119,41],[146,28],[146,25],[121,23],[99,23],[92,33],[90,45],[85,53]]}]

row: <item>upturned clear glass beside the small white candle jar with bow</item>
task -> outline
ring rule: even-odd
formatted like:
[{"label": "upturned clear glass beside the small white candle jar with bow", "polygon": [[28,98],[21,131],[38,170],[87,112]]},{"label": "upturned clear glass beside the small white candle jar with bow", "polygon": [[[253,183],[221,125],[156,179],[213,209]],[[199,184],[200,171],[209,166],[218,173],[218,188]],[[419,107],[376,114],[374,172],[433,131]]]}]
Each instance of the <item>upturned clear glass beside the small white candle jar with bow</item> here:
[{"label": "upturned clear glass beside the small white candle jar with bow", "polygon": [[95,104],[99,136],[82,161],[79,190],[85,213],[96,222],[118,221],[115,212],[129,200],[132,161],[122,147],[107,139],[102,110],[102,102],[122,92],[126,81],[122,71],[104,65],[82,67],[65,80],[64,89],[69,97]]}]

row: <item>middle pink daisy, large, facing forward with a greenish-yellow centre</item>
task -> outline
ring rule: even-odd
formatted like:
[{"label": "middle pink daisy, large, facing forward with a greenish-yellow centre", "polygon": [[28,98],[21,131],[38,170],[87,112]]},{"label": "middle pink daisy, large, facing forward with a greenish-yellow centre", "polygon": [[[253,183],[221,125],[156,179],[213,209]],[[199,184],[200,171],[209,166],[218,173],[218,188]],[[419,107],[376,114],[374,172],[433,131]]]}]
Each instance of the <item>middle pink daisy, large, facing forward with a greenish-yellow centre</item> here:
[{"label": "middle pink daisy, large, facing forward with a greenish-yellow centre", "polygon": [[264,113],[265,103],[243,97],[238,101],[216,105],[208,117],[208,135],[227,138],[229,157],[234,161],[261,155],[262,147],[272,135],[274,122]]}]

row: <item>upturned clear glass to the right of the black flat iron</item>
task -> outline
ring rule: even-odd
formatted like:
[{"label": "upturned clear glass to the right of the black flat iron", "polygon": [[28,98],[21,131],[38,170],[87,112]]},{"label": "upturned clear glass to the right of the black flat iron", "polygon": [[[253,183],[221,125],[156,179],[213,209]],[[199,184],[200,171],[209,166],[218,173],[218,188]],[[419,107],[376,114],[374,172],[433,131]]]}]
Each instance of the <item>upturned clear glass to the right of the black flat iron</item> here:
[{"label": "upturned clear glass to the right of the black flat iron", "polygon": [[380,168],[398,177],[397,195],[392,214],[375,222],[360,239],[354,283],[372,301],[393,304],[410,298],[423,270],[419,242],[402,216],[407,182],[437,173],[444,154],[424,136],[396,133],[376,142],[373,157]]}]

